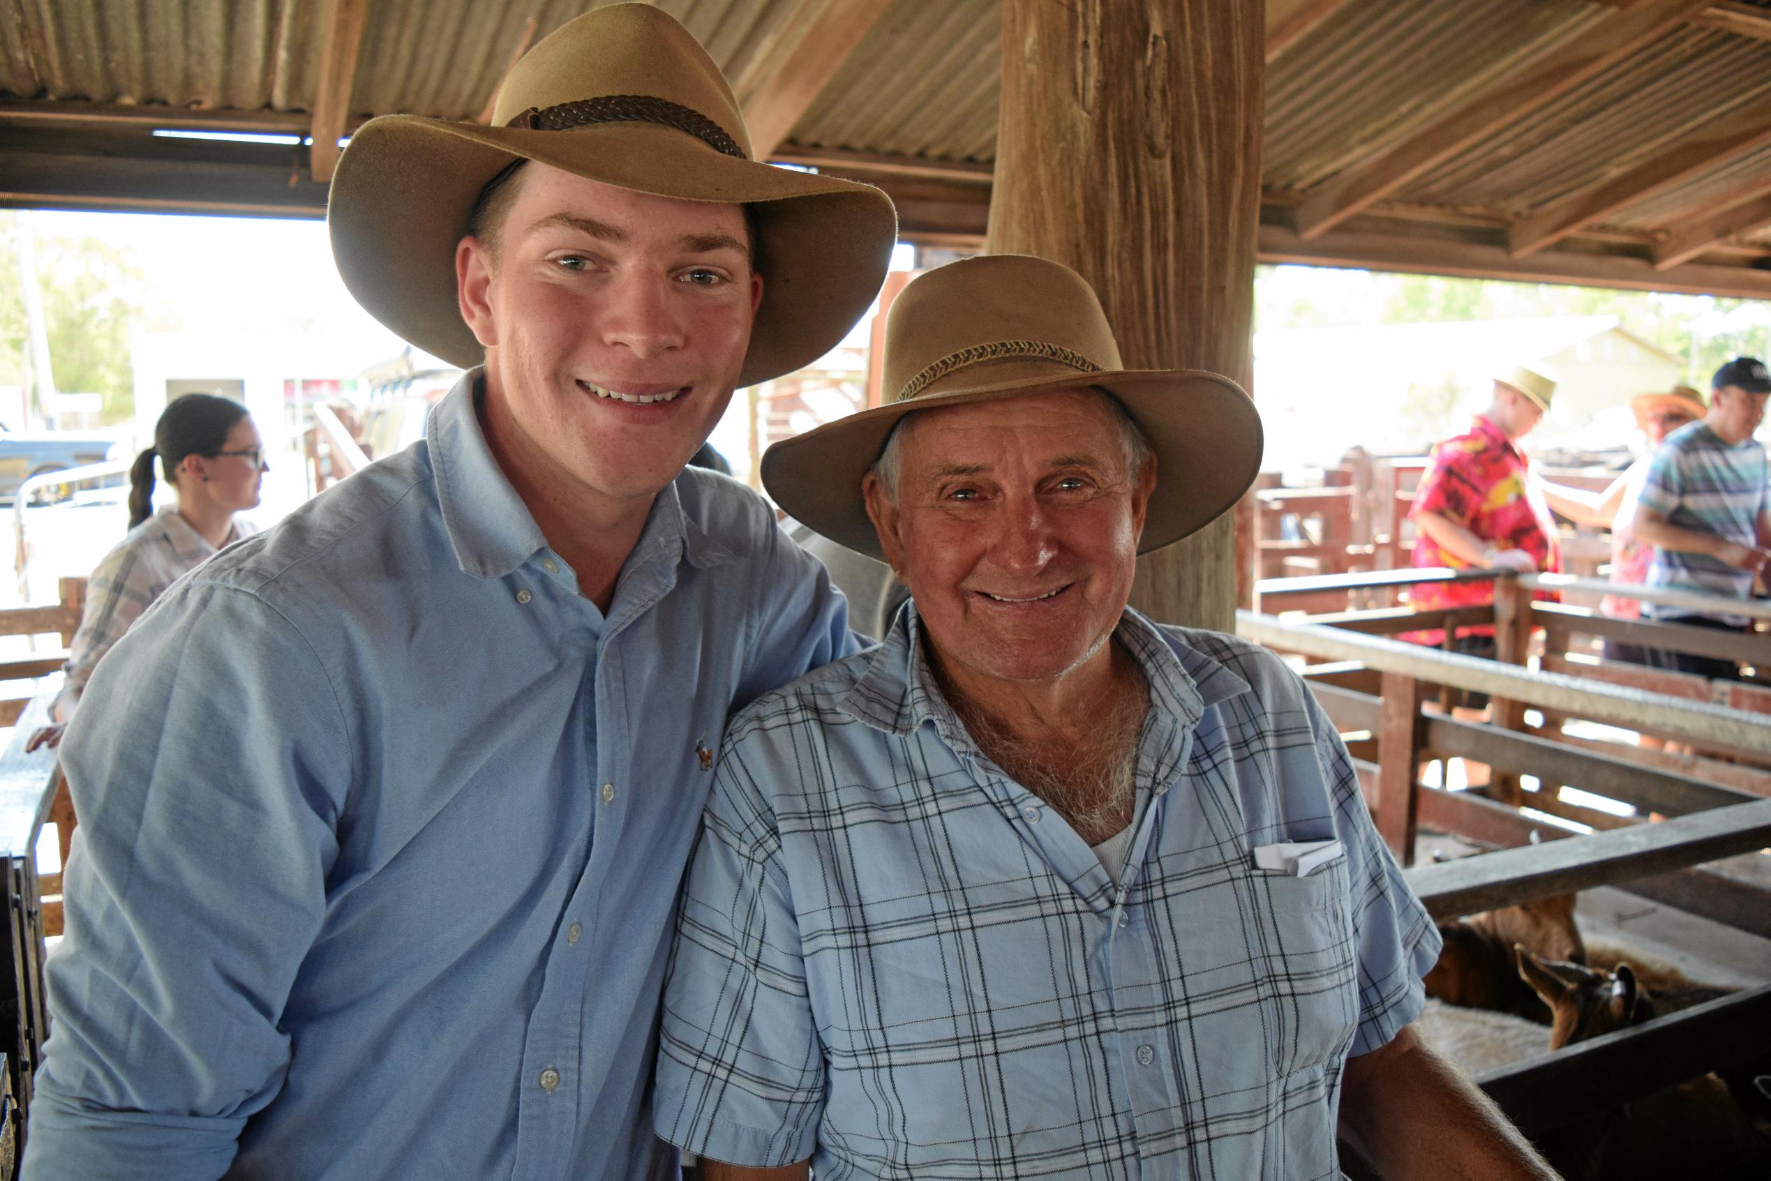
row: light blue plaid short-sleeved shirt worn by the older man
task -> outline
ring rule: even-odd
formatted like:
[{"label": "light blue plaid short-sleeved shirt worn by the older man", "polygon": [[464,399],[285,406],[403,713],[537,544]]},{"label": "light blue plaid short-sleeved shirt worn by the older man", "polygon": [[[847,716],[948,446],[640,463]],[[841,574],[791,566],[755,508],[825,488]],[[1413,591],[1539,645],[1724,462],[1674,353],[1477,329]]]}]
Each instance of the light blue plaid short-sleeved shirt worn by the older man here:
[{"label": "light blue plaid short-sleeved shirt worn by the older man", "polygon": [[[1149,680],[1114,887],[972,744],[917,641],[733,719],[664,1000],[661,1137],[848,1177],[1339,1177],[1350,1054],[1438,933],[1272,653],[1126,611]],[[1337,838],[1311,876],[1252,850]]]}]

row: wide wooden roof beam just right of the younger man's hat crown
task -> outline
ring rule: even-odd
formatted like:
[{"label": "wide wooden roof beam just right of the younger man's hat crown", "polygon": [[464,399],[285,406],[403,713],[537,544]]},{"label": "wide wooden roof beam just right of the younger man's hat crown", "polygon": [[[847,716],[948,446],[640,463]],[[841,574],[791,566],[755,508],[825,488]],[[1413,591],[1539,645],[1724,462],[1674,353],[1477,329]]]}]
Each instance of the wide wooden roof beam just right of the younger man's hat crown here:
[{"label": "wide wooden roof beam just right of the younger man's hat crown", "polygon": [[886,12],[889,0],[800,0],[781,32],[739,76],[733,94],[751,133],[751,152],[769,159],[848,55]]}]

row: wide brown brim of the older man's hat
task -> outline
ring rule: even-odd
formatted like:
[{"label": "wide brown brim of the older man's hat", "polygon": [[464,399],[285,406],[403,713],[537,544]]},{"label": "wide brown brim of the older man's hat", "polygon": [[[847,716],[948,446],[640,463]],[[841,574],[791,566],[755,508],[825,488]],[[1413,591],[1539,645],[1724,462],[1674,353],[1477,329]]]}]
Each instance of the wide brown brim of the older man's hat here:
[{"label": "wide brown brim of the older man's hat", "polygon": [[1089,386],[1105,390],[1125,405],[1156,455],[1156,490],[1137,552],[1172,545],[1211,524],[1259,475],[1264,444],[1261,416],[1236,382],[1204,370],[1118,370],[1070,374],[1036,384],[978,384],[861,411],[770,446],[762,460],[763,487],[795,521],[848,549],[884,560],[861,496],[861,480],[905,414]]}]

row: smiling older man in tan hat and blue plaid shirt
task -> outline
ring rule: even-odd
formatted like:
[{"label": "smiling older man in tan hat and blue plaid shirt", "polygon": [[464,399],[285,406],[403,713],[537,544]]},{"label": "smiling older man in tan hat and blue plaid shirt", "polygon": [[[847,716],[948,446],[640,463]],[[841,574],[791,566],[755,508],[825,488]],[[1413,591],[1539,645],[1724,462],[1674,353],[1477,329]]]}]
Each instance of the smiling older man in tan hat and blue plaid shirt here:
[{"label": "smiling older man in tan hat and blue plaid shirt", "polygon": [[1385,1176],[1551,1176],[1408,1030],[1438,933],[1303,682],[1126,607],[1254,480],[1241,390],[1125,370],[1015,255],[903,290],[886,390],[763,460],[912,597],[726,729],[659,1135],[708,1177],[1295,1181],[1337,1131]]}]

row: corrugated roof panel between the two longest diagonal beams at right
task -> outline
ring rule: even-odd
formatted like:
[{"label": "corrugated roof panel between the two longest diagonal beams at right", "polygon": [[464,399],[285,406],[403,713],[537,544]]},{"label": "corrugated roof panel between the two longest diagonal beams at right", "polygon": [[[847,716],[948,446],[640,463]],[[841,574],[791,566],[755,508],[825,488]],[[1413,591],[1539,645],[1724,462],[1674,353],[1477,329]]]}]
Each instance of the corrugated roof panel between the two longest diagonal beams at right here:
[{"label": "corrugated roof panel between the two longest diagonal beams at right", "polygon": [[1605,182],[1767,90],[1771,42],[1682,28],[1420,177],[1404,198],[1518,216]]}]

